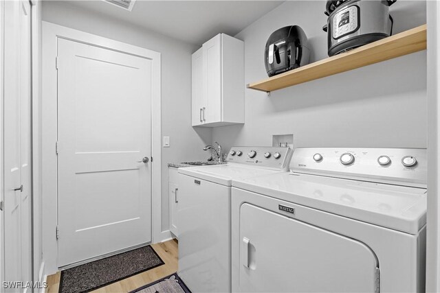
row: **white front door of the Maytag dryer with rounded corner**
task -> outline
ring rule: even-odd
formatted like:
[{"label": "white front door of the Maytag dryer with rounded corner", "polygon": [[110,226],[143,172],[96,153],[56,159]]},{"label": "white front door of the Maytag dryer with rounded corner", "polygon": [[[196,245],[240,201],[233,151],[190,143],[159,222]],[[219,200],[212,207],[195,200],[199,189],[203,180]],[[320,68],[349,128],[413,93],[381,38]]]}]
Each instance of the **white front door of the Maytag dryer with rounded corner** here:
[{"label": "white front door of the Maytag dryer with rounded corner", "polygon": [[243,204],[241,292],[375,292],[377,257],[354,239]]}]

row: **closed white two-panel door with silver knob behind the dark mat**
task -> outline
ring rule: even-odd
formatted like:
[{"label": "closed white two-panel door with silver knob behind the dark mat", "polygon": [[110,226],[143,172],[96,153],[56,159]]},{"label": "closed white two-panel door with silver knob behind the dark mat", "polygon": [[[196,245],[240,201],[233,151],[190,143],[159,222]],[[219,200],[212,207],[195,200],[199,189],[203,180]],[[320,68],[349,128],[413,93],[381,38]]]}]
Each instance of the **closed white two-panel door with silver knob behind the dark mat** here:
[{"label": "closed white two-panel door with silver knob behind the dark mat", "polygon": [[151,242],[150,109],[151,60],[58,39],[58,266]]}]

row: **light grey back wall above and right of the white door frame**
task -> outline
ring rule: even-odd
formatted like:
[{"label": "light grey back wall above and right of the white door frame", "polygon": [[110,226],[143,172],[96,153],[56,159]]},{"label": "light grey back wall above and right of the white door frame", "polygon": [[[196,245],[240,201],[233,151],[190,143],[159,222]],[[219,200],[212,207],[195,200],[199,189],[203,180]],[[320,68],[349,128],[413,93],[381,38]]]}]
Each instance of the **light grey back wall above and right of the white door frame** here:
[{"label": "light grey back wall above and right of the white door frame", "polygon": [[43,21],[162,54],[162,136],[170,137],[170,148],[162,148],[162,231],[168,230],[167,164],[205,158],[203,146],[212,140],[210,129],[191,127],[191,54],[197,46],[89,12],[68,1],[45,1]]}]

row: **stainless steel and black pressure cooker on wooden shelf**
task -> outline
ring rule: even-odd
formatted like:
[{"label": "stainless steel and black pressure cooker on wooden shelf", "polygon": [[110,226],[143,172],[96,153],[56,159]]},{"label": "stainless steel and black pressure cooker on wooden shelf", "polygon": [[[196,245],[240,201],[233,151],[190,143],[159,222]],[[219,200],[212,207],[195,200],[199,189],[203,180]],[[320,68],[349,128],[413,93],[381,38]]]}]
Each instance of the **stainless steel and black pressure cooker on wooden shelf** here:
[{"label": "stainless steel and black pressure cooker on wooden shelf", "polygon": [[333,56],[375,42],[393,33],[390,5],[397,0],[329,0],[327,32],[328,54]]}]

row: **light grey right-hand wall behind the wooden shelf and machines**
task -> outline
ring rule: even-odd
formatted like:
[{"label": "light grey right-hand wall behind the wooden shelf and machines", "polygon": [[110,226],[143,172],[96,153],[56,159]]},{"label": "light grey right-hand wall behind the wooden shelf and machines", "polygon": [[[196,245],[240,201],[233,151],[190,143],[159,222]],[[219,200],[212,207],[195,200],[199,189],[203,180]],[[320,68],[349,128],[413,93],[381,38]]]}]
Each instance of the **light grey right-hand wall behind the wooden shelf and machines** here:
[{"label": "light grey right-hand wall behind the wooden shelf and machines", "polygon": [[[236,38],[245,42],[245,83],[267,78],[264,49],[272,32],[300,25],[311,62],[327,58],[325,1],[287,1]],[[426,23],[425,1],[391,7],[395,33]],[[265,93],[245,90],[245,124],[214,128],[212,140],[272,145],[272,134],[294,134],[294,147],[426,148],[426,51]]]}]

